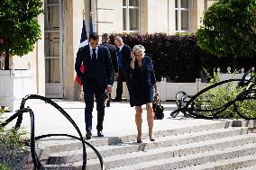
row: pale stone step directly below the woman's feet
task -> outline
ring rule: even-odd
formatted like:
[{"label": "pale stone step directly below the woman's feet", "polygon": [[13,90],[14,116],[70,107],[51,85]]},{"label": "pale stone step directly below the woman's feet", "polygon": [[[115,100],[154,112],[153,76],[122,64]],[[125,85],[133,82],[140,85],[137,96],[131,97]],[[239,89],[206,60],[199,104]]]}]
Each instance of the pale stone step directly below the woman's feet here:
[{"label": "pale stone step directly below the woman's feet", "polygon": [[[144,141],[144,143],[138,145],[136,143],[124,143],[122,145],[116,145],[116,146],[105,146],[105,147],[98,147],[96,148],[102,157],[110,157],[110,156],[116,156],[120,154],[127,154],[131,152],[137,152],[137,151],[145,151],[148,149],[155,149],[155,148],[166,148],[170,146],[179,146],[182,144],[188,144],[188,143],[195,143],[200,141],[201,143],[197,144],[200,148],[200,145],[206,145],[208,140],[213,140],[213,142],[210,141],[212,145],[215,145],[215,142],[228,142],[231,140],[230,143],[234,142],[235,139],[254,139],[254,136],[246,136],[241,134],[246,134],[246,128],[230,128],[230,129],[219,129],[219,130],[205,130],[205,131],[199,131],[199,132],[193,132],[193,133],[185,133],[180,134],[177,136],[169,136],[169,137],[163,137],[156,139],[155,142],[151,141]],[[239,135],[239,136],[238,136]],[[230,137],[230,139],[229,139]],[[233,137],[233,138],[231,138]],[[227,138],[227,139],[224,139]],[[214,140],[216,139],[216,140]],[[219,139],[219,140],[217,140]],[[223,139],[223,140],[222,140]],[[205,143],[203,141],[206,141]],[[251,140],[250,140],[251,141]],[[196,146],[197,146],[196,145]],[[209,148],[212,149],[212,148]],[[83,150],[73,150],[68,152],[60,152],[56,154],[51,154],[48,159],[48,164],[59,164],[59,163],[69,163],[69,162],[78,162],[82,159]],[[96,158],[96,154],[93,152],[92,149],[87,149],[87,159],[94,159]]]}]

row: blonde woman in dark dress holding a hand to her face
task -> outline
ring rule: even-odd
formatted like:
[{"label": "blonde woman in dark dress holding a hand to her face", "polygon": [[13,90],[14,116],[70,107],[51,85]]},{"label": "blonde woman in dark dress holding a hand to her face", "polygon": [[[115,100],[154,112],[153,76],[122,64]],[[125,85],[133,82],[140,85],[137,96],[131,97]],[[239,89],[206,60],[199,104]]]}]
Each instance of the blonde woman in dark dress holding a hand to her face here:
[{"label": "blonde woman in dark dress holding a hand to her face", "polygon": [[135,45],[132,51],[131,79],[133,90],[133,102],[135,105],[135,122],[138,130],[137,142],[142,143],[142,105],[146,104],[147,121],[149,126],[149,137],[153,137],[154,113],[152,102],[154,92],[158,95],[156,78],[151,58],[145,56],[145,48],[142,45]]}]

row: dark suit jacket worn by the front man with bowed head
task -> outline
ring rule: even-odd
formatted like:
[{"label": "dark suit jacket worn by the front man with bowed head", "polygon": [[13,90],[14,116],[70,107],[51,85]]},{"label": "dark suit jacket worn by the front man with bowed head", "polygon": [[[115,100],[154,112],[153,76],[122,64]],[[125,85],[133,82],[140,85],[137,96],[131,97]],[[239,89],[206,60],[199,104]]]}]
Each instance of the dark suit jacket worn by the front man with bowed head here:
[{"label": "dark suit jacket worn by the front man with bowed head", "polygon": [[[80,70],[82,63],[85,67],[84,73]],[[89,45],[79,49],[75,69],[83,85],[90,84],[94,80],[96,80],[97,86],[102,89],[106,85],[113,85],[112,61],[109,50],[105,46],[98,46],[96,66],[91,59]]]}]

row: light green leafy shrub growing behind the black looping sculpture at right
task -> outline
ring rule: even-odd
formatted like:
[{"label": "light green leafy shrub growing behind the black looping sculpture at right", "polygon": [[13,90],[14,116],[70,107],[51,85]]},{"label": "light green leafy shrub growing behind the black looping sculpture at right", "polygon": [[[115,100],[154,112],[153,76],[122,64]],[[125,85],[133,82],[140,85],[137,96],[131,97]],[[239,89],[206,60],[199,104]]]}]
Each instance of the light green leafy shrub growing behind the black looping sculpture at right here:
[{"label": "light green leafy shrub growing behind the black looping sculpture at right", "polygon": [[[218,73],[214,71],[214,76],[210,76],[206,72],[206,75],[210,78],[210,85],[219,82]],[[200,95],[196,101],[196,106],[200,109],[213,110],[222,107],[225,103],[233,101],[238,94],[242,93],[247,86],[238,86],[238,82],[231,82],[224,85],[216,86],[210,89],[206,93]],[[256,100],[245,100],[242,102],[236,102],[239,106],[239,112],[249,118],[256,117]],[[201,114],[211,115],[213,112],[202,112]],[[240,119],[241,117],[233,110],[233,105],[229,106],[224,112],[220,112],[221,118]]]}]

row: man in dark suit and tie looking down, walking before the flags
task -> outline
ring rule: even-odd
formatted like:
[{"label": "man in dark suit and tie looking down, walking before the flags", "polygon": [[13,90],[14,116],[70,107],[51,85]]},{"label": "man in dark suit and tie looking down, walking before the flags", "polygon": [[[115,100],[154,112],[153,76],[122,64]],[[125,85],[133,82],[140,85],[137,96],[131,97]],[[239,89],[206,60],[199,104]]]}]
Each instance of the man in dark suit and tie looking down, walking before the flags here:
[{"label": "man in dark suit and tie looking down, walking before the flags", "polygon": [[[111,94],[113,85],[112,61],[109,50],[105,46],[98,45],[97,33],[89,36],[89,44],[78,50],[75,69],[81,79],[86,103],[85,117],[87,139],[92,137],[92,112],[94,108],[94,94],[96,95],[97,110],[97,136],[103,137],[103,121],[105,116],[105,89],[106,94]],[[80,67],[83,63],[84,73]]]}]

